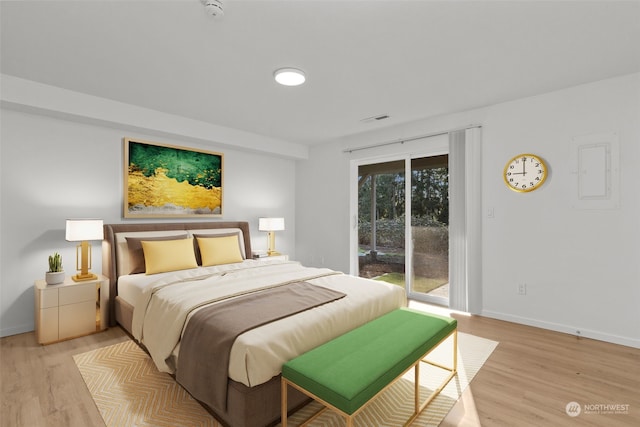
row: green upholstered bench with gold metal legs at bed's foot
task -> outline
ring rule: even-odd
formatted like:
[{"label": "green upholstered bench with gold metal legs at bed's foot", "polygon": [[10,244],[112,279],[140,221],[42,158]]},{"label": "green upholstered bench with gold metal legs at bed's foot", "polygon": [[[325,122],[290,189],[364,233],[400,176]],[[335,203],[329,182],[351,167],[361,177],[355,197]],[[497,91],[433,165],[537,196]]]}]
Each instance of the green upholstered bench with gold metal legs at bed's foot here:
[{"label": "green upholstered bench with gold metal legs at bed's foot", "polygon": [[[453,366],[447,379],[420,405],[420,362],[453,335]],[[342,414],[347,426],[365,404],[415,367],[414,414],[411,424],[456,374],[457,322],[455,319],[401,308],[290,360],[282,366],[282,427],[287,426],[287,387],[302,391]],[[303,424],[305,425],[305,424]]]}]

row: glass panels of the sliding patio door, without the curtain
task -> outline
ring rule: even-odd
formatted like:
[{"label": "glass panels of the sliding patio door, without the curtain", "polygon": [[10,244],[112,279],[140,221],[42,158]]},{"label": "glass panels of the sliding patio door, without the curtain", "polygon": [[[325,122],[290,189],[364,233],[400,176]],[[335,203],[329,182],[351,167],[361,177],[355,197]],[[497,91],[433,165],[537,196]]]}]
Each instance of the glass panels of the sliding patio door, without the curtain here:
[{"label": "glass panels of the sliding patio door, without the curtain", "polygon": [[358,166],[361,277],[403,286],[413,299],[448,305],[448,170],[447,154]]}]

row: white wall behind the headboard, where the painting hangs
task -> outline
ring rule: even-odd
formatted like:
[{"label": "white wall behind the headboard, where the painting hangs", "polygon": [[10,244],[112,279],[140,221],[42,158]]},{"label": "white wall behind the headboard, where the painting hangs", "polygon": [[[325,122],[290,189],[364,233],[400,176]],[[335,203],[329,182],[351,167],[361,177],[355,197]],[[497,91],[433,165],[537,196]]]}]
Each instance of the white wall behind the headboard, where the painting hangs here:
[{"label": "white wall behind the headboard, where the painting hangs", "polygon": [[[59,251],[65,270],[75,270],[75,245],[64,239],[66,218],[158,221],[122,218],[124,136],[222,152],[224,216],[213,220],[249,221],[253,248],[266,249],[266,234],[257,231],[258,217],[283,216],[287,229],[278,233],[278,249],[295,257],[293,159],[175,135],[151,136],[117,124],[104,127],[9,109],[0,112],[2,336],[33,330],[33,282],[44,277],[49,254]],[[171,128],[167,116],[163,118],[163,126]],[[92,271],[100,272],[100,244],[93,249]]]}]

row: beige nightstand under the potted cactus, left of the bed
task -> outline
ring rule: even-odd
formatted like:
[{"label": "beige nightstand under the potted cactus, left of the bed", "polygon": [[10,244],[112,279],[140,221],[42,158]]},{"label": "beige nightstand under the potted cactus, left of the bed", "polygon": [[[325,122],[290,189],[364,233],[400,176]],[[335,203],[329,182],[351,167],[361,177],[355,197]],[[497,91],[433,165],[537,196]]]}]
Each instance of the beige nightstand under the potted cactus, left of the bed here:
[{"label": "beige nightstand under the potted cactus, left of the bed", "polygon": [[36,339],[40,344],[80,337],[107,328],[109,279],[74,282],[67,277],[59,285],[37,280],[34,286]]}]

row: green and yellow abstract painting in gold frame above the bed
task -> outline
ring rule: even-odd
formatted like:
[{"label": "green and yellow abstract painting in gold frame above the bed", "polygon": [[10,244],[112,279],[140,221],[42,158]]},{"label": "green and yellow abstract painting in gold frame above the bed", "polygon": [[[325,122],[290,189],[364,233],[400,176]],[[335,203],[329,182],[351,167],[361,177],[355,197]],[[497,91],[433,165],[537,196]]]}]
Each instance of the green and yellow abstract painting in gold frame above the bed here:
[{"label": "green and yellow abstract painting in gold frame above the bed", "polygon": [[125,217],[222,215],[222,154],[125,138]]}]

